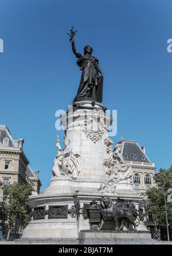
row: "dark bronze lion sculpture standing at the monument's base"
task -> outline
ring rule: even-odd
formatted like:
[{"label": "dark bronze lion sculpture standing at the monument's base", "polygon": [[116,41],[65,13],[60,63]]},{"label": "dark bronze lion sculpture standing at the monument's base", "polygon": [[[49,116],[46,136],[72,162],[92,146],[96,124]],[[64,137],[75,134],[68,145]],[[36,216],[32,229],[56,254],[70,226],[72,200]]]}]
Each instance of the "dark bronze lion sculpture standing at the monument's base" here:
[{"label": "dark bronze lion sculpture standing at the monument's base", "polygon": [[114,221],[115,230],[123,230],[127,221],[130,221],[135,230],[139,225],[139,215],[133,205],[131,207],[126,202],[117,202],[114,205],[109,196],[101,197],[100,212],[102,217],[100,230],[103,228],[105,221]]}]

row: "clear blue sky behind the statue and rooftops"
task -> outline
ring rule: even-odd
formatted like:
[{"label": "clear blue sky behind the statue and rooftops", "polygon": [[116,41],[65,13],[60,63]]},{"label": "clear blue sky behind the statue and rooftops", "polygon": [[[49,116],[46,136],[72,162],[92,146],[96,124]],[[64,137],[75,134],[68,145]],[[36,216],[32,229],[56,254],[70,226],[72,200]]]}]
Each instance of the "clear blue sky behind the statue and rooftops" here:
[{"label": "clear blue sky behind the statue and rooftops", "polygon": [[1,0],[0,124],[24,137],[42,191],[56,154],[55,112],[67,109],[80,81],[72,25],[78,51],[92,45],[104,71],[103,104],[118,110],[114,142],[138,140],[157,170],[172,165],[171,11],[171,0]]}]

